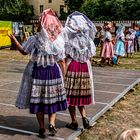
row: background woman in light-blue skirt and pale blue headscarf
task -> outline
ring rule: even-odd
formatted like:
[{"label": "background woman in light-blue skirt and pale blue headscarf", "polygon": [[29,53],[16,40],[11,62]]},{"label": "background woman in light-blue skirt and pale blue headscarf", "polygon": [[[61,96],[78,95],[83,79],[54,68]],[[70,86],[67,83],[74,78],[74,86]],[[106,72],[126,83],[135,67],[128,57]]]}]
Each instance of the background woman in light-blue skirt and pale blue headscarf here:
[{"label": "background woman in light-blue skirt and pale blue headscarf", "polygon": [[125,56],[124,30],[125,30],[125,26],[121,24],[116,31],[116,44],[114,46],[114,54],[117,56],[116,64],[119,64],[120,56]]}]

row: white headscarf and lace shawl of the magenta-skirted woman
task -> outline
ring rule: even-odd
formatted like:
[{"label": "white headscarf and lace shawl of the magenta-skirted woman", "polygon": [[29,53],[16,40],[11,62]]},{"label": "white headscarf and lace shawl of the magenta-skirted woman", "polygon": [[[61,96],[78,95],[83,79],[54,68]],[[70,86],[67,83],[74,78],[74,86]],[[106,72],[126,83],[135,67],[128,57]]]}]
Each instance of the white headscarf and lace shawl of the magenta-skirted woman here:
[{"label": "white headscarf and lace shawl of the magenta-skirted woman", "polygon": [[94,38],[96,27],[84,14],[74,12],[65,24],[66,54],[78,61],[86,61],[96,53]]}]

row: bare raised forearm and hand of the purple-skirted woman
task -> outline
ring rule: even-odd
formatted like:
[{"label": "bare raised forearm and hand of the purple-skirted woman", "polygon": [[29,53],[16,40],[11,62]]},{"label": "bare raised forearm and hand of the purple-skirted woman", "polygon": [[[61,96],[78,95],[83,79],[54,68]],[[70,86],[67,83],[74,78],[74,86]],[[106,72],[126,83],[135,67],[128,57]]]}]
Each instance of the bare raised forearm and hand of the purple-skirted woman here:
[{"label": "bare raised forearm and hand of the purple-skirted woman", "polygon": [[19,50],[19,52],[23,55],[27,55],[27,53],[22,49],[21,44],[17,41],[15,36],[13,34],[8,35],[11,39],[11,41],[16,45],[16,48]]}]

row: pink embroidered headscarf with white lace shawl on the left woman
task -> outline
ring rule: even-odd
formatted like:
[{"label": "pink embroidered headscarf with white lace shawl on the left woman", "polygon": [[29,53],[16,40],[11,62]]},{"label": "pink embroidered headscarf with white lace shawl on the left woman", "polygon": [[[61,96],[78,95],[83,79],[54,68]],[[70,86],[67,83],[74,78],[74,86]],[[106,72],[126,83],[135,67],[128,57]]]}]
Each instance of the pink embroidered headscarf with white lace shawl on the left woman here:
[{"label": "pink embroidered headscarf with white lace shawl on the left woman", "polygon": [[31,52],[31,56],[38,66],[46,67],[65,58],[65,42],[62,36],[63,27],[51,9],[43,11],[39,21],[41,31],[33,39],[38,52],[36,54],[34,49]]}]

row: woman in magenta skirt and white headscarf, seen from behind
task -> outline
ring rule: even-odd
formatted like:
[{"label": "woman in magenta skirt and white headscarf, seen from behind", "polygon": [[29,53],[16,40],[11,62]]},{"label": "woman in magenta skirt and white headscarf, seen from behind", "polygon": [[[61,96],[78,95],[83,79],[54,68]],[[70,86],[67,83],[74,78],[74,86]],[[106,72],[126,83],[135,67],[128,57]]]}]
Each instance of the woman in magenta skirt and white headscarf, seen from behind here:
[{"label": "woman in magenta skirt and white headscarf, seen from behind", "polygon": [[83,127],[90,128],[84,105],[94,103],[93,74],[89,59],[96,53],[93,42],[95,34],[96,27],[84,14],[76,11],[67,17],[64,28],[67,56],[65,88],[72,122],[66,127],[73,130],[78,128],[76,106],[81,113]]}]

